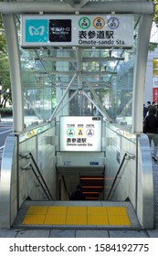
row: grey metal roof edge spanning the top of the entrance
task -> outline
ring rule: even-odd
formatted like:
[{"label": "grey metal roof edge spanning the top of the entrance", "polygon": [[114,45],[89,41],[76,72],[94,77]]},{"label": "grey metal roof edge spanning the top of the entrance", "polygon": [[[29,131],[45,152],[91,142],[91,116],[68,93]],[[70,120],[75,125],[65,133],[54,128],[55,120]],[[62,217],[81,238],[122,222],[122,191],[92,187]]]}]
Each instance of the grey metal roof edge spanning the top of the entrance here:
[{"label": "grey metal roof edge spanning the top of the entrance", "polygon": [[68,3],[51,2],[0,2],[2,14],[148,14],[154,12],[153,2],[89,2],[74,7]]}]

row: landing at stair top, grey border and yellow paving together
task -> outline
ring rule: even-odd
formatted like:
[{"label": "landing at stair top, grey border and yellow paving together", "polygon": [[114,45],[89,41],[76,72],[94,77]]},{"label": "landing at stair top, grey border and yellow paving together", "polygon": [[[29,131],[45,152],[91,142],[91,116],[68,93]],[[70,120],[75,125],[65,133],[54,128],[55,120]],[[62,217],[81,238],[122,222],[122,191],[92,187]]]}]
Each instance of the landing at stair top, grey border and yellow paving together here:
[{"label": "landing at stair top, grey border and yellow paving together", "polygon": [[130,202],[106,201],[26,201],[13,226],[23,229],[141,229]]}]

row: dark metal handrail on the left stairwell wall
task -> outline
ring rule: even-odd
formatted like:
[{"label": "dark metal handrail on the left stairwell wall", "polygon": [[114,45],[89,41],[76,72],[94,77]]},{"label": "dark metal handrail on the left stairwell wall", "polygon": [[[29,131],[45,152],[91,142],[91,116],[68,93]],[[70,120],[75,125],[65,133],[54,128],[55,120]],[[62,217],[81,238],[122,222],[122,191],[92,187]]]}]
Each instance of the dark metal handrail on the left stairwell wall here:
[{"label": "dark metal handrail on the left stairwell wall", "polygon": [[[29,155],[30,157],[28,157],[28,155]],[[33,170],[34,175],[37,177],[37,181],[39,182],[40,186],[43,188],[45,194],[47,195],[47,199],[48,199],[48,200],[53,200],[53,197],[52,197],[52,195],[51,195],[51,193],[50,193],[50,191],[49,191],[49,189],[48,189],[48,187],[47,187],[47,183],[46,183],[44,177],[42,176],[42,174],[41,174],[41,172],[40,172],[40,170],[39,170],[39,167],[38,167],[38,165],[37,165],[37,163],[36,163],[36,161],[35,161],[35,158],[34,158],[34,156],[32,155],[32,153],[29,152],[29,153],[26,153],[26,155],[21,155],[21,156],[22,156],[23,158],[26,158],[26,159],[30,159],[30,158],[31,158],[31,160],[33,161],[33,164],[35,165],[36,169],[34,168],[34,165],[32,165],[31,163],[29,163],[28,165],[26,165],[26,167],[23,168],[23,170],[28,170],[29,167],[31,167],[31,169]],[[36,170],[37,170],[37,172],[36,172]],[[41,178],[41,180],[42,180],[44,186],[43,186],[43,184],[42,184],[40,178]]]}]

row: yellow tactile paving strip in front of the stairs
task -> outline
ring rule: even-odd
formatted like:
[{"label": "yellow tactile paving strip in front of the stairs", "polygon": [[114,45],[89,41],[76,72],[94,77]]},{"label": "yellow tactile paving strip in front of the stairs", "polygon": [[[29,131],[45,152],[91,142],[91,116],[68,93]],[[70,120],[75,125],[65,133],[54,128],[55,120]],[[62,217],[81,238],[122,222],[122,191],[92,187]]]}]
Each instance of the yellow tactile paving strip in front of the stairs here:
[{"label": "yellow tactile paving strip in front of the stairs", "polygon": [[23,225],[131,226],[125,207],[30,206]]}]

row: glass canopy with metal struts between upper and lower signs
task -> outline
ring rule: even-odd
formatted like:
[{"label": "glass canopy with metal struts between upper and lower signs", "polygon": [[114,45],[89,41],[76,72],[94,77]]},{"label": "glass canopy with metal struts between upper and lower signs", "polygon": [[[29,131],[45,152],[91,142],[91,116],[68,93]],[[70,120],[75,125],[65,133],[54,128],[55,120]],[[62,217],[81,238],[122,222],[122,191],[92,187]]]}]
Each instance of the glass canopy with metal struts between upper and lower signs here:
[{"label": "glass canopy with metal struts between upper and lower signs", "polygon": [[[59,115],[100,115],[131,127],[132,81],[139,16],[132,48],[21,48],[26,127],[44,123],[75,73]],[[18,19],[19,21],[19,19]]]}]

